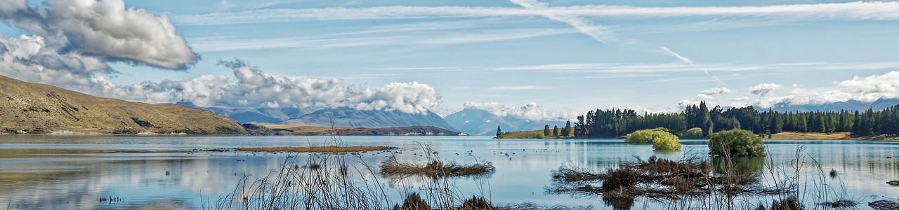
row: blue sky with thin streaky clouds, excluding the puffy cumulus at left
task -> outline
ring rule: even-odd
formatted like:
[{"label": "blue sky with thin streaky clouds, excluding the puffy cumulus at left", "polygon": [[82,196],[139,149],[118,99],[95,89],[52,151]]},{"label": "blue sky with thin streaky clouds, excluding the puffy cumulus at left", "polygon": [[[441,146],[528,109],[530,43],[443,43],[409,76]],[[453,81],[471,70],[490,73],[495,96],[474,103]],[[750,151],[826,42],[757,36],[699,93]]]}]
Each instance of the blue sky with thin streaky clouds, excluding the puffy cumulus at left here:
[{"label": "blue sky with thin streaky clouds, excluding the puffy cumulus at left", "polygon": [[[462,109],[467,101],[536,102],[543,109],[578,112],[612,106],[677,110],[679,102],[691,100],[758,105],[820,95],[814,92],[855,94],[862,88],[841,85],[853,76],[878,76],[871,79],[893,85],[897,82],[885,75],[899,70],[895,2],[130,0],[125,5],[167,16],[202,59],[186,71],[109,62],[120,72],[109,75],[113,83],[233,77],[217,63],[238,58],[265,74],[336,77],[343,85],[425,83],[441,96],[444,112]],[[3,32],[7,38],[22,33],[15,26]],[[752,94],[751,87],[761,83],[777,84],[777,90]],[[712,88],[727,91],[700,94]],[[766,97],[771,99],[761,99]]]}]

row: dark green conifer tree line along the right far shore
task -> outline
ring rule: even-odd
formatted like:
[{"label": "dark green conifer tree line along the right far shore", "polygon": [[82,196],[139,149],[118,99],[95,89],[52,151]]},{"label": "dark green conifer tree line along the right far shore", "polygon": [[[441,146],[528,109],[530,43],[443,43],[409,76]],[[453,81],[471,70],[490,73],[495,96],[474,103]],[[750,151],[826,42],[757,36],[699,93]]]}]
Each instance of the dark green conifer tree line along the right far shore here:
[{"label": "dark green conifer tree line along the right far shore", "polygon": [[[758,135],[851,132],[853,136],[896,136],[899,135],[899,105],[884,110],[780,112],[771,109],[759,111],[752,106],[730,109],[716,106],[709,109],[706,102],[701,101],[699,105],[689,105],[683,111],[674,113],[641,115],[633,109],[590,110],[586,115],[577,116],[574,127],[570,129],[574,130],[575,137],[619,137],[655,127],[667,128],[672,133],[684,133],[698,127],[702,129],[702,136],[734,128]],[[548,131],[548,126],[544,130]]]}]

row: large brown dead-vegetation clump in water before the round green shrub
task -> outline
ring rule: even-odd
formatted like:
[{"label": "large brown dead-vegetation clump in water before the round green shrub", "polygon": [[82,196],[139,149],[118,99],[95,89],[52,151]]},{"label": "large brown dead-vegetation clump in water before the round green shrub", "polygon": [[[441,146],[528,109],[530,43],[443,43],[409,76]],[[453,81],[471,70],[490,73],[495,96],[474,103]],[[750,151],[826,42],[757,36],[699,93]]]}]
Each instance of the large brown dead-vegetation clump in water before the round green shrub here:
[{"label": "large brown dead-vegetation clump in water before the round green shrub", "polygon": [[[712,173],[708,162],[695,158],[682,161],[658,159],[623,162],[618,169],[592,172],[563,166],[553,171],[552,193],[599,194],[610,198],[647,197],[677,199],[708,196],[712,192],[726,195],[742,193],[768,194],[758,188],[758,179],[734,173]],[[600,187],[594,187],[600,184]]]}]

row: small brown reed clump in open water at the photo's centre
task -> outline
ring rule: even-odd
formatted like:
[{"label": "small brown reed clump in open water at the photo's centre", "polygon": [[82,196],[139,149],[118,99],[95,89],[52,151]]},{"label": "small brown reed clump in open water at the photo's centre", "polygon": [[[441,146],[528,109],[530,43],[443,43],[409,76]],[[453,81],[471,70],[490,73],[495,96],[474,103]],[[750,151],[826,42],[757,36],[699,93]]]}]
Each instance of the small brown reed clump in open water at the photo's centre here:
[{"label": "small brown reed clump in open water at the photo's centre", "polygon": [[409,162],[397,162],[396,158],[393,157],[385,162],[381,162],[380,168],[381,172],[386,176],[423,175],[430,178],[484,176],[496,171],[496,168],[490,162],[459,165],[456,162],[433,160],[430,163],[418,165]]}]

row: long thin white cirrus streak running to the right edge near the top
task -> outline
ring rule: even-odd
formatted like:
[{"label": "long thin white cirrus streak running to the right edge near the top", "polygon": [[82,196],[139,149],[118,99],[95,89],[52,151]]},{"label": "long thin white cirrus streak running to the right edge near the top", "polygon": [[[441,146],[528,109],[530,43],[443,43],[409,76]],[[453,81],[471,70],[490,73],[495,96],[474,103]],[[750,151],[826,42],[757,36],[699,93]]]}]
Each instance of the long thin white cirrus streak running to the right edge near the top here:
[{"label": "long thin white cirrus streak running to the right edge near the top", "polygon": [[594,4],[540,6],[539,8],[489,6],[376,6],[358,8],[262,9],[235,13],[172,14],[171,16],[172,20],[179,25],[210,25],[258,22],[520,17],[543,15],[622,18],[780,16],[793,19],[899,20],[899,2],[672,7]]}]

